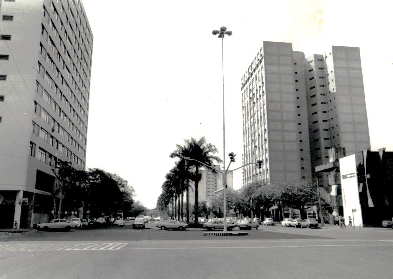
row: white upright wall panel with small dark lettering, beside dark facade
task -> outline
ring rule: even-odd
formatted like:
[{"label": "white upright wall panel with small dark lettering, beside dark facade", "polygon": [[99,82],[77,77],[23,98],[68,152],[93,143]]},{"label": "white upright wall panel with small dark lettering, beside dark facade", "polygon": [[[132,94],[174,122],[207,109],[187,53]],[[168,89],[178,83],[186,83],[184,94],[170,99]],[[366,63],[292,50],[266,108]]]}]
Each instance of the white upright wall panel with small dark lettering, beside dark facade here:
[{"label": "white upright wall panel with small dark lettering, beside dark facade", "polygon": [[363,218],[359,200],[355,154],[340,159],[340,173],[345,224],[348,224],[348,217],[351,216],[353,225],[362,227]]}]

